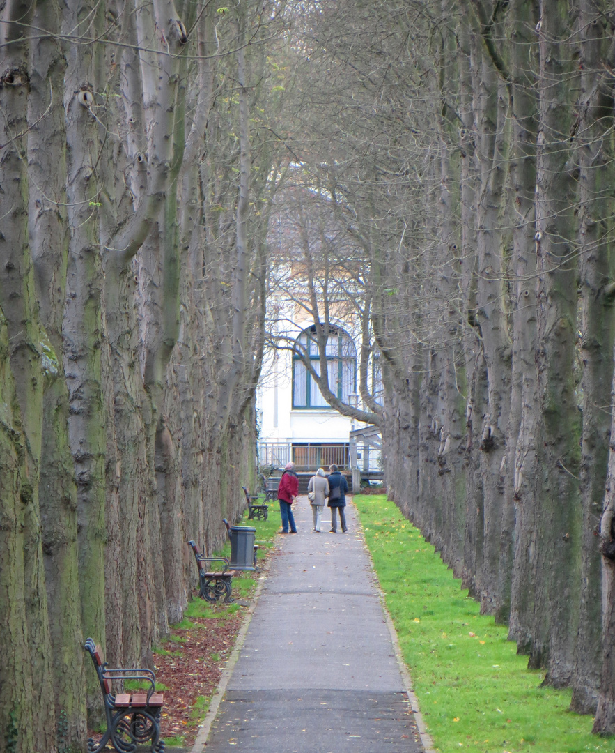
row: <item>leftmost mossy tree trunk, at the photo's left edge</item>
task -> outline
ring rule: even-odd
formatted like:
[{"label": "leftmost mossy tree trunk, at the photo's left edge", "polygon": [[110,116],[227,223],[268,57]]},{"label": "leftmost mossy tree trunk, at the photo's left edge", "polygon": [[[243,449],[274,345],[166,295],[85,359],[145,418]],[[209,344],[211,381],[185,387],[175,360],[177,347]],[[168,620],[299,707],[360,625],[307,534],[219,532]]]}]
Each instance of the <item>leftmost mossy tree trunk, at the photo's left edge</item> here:
[{"label": "leftmost mossy tree trunk, at the photo's left edge", "polygon": [[[16,748],[23,753],[36,748],[51,751],[56,746],[50,633],[38,501],[43,428],[42,349],[45,338],[39,325],[29,248],[28,176],[26,160],[23,157],[26,154],[25,136],[28,133],[29,89],[29,47],[25,35],[31,20],[32,8],[20,2],[8,2],[4,6],[0,29],[0,110],[5,113],[0,126],[0,184],[3,191],[2,217],[5,218],[0,236],[0,301],[10,343],[6,355],[13,374],[15,398],[19,406],[18,424],[22,432],[19,442],[23,451],[19,467],[14,467],[19,476],[13,477],[12,483],[8,480],[8,527],[9,530],[15,531],[14,526],[17,524],[23,530],[23,534],[20,533],[17,538],[7,542],[11,545],[11,556],[15,557],[16,581],[12,584],[10,581],[5,582],[8,593],[5,592],[4,601],[5,605],[14,608],[17,605],[11,602],[15,597],[21,597],[28,605],[24,616],[26,642],[29,646],[29,656],[22,654],[16,657],[17,660],[29,660],[29,663],[19,668],[15,665],[10,667],[14,673],[12,676],[9,675],[8,687],[11,687],[10,683],[14,681],[18,693],[23,693],[28,688],[32,692],[28,706],[35,712],[27,712],[27,706],[11,708],[12,694],[8,694],[7,700],[3,699],[0,703],[7,727],[14,730]],[[6,386],[10,387],[10,383],[7,382]],[[13,418],[9,412],[7,428],[14,424]],[[17,450],[17,447],[16,442],[14,450]],[[11,467],[10,454],[8,459]],[[12,496],[15,492],[20,495],[19,501]],[[11,499],[16,506],[13,509]],[[21,505],[18,513],[17,505]],[[17,520],[14,517],[15,513]],[[16,550],[17,544],[23,544],[19,551]],[[14,629],[15,625],[11,627]],[[20,633],[17,633],[15,638],[19,648]],[[2,730],[2,733],[4,731]],[[30,745],[32,747],[29,747]]]}]

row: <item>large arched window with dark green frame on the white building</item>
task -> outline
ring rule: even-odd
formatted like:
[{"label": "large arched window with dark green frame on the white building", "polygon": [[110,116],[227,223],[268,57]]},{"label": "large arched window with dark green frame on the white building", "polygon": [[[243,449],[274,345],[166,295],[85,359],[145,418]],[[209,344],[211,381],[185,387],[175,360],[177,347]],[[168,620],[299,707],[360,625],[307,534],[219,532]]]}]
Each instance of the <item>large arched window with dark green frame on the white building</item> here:
[{"label": "large arched window with dark green frame on the white building", "polygon": [[[299,335],[292,355],[292,407],[326,408],[329,404],[320,394],[316,380],[313,380],[305,367],[303,354],[310,355],[311,366],[320,374],[320,357],[316,327],[311,327]],[[327,373],[329,389],[344,403],[350,403],[349,395],[355,392],[356,350],[353,341],[341,329],[331,331],[326,344]]]}]

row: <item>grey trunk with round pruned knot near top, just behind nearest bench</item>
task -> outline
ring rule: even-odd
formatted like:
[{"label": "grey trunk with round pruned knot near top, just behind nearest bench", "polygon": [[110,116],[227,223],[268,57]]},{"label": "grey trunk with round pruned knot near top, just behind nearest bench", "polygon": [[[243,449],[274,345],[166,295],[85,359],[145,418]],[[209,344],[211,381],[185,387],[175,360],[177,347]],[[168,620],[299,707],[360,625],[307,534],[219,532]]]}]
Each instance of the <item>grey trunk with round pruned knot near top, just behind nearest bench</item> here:
[{"label": "grey trunk with round pruned knot near top, just behind nearest bench", "polygon": [[[62,32],[79,29],[92,14],[88,2],[74,2],[62,17]],[[66,198],[68,266],[62,336],[68,384],[68,420],[74,474],[77,479],[79,587],[83,632],[105,644],[105,459],[109,422],[104,375],[105,343],[103,272],[98,245],[100,141],[98,120],[90,109],[98,83],[98,56],[93,46],[68,47],[65,73]],[[113,660],[113,657],[110,657]],[[90,678],[90,683],[92,678]],[[93,684],[89,708],[100,706]]]}]

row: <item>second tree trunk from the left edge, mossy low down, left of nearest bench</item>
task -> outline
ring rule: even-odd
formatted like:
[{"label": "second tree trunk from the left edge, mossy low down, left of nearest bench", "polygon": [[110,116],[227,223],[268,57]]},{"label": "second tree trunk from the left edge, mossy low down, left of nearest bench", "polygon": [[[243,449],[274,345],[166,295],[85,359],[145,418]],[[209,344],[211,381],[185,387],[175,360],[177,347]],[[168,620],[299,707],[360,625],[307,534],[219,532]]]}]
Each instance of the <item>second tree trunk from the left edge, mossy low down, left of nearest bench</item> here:
[{"label": "second tree trunk from the left edge, mossy low down, left of nearest bench", "polygon": [[[62,86],[64,56],[57,41],[59,8],[37,4],[33,23],[46,29],[32,46],[29,122],[29,220],[32,261],[41,320],[45,389],[41,448],[41,529],[53,654],[59,745],[83,746],[86,695],[77,546],[77,487],[68,439],[68,389],[63,366],[62,316],[68,244],[65,212],[65,128]],[[94,677],[90,678],[92,685]],[[93,687],[99,696],[98,687]]]}]

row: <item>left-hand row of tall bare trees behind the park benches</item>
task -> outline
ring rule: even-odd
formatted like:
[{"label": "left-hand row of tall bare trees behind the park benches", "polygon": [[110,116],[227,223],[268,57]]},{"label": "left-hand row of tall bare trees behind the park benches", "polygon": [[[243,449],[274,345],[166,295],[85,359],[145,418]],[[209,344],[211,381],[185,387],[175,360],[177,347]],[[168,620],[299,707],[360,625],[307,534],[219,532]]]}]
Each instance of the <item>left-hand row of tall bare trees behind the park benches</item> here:
[{"label": "left-hand row of tall bare trees behind the park benches", "polygon": [[151,663],[253,485],[278,26],[2,3],[2,751],[84,749],[85,637]]}]

